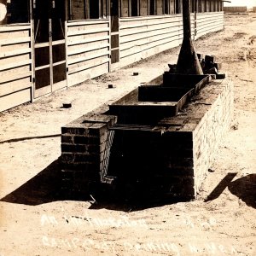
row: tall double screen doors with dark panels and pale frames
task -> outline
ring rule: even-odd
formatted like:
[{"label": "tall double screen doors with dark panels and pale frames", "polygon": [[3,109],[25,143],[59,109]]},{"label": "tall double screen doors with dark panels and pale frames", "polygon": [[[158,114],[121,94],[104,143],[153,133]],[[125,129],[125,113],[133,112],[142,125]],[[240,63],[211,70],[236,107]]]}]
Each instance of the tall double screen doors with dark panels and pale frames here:
[{"label": "tall double screen doors with dark panels and pale frames", "polygon": [[34,0],[33,17],[38,97],[67,86],[65,1]]}]

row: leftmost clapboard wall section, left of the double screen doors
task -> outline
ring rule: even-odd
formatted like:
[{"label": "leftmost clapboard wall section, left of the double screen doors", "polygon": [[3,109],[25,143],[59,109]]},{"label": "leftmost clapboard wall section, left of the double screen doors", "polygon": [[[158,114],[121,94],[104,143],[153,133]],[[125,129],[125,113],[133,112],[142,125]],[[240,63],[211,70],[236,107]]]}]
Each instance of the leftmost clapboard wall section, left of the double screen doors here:
[{"label": "leftmost clapboard wall section, left of the double screen doors", "polygon": [[0,26],[0,111],[31,101],[31,25]]}]

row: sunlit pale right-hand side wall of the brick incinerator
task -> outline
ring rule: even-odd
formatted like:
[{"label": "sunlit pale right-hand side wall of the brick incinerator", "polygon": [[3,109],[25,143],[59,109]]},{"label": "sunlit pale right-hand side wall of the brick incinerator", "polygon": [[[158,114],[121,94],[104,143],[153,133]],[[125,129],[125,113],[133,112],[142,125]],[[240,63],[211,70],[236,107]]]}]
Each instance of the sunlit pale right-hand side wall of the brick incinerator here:
[{"label": "sunlit pale right-hand side wall of the brick incinerator", "polygon": [[208,168],[212,165],[218,145],[233,119],[233,84],[229,79],[213,80],[194,100],[197,106],[193,108],[192,103],[189,112],[198,112],[195,120],[200,120],[193,131],[195,192],[198,192]]}]

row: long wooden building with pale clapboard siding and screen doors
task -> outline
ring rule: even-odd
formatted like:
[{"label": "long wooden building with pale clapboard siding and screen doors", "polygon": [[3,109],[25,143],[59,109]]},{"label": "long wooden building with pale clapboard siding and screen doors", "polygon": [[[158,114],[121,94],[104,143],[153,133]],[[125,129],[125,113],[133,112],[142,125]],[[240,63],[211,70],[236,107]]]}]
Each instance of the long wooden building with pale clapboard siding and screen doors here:
[{"label": "long wooden building with pale clapboard siding and screen doors", "polygon": [[[190,0],[194,39],[223,1]],[[182,43],[182,0],[0,0],[0,111]]]}]

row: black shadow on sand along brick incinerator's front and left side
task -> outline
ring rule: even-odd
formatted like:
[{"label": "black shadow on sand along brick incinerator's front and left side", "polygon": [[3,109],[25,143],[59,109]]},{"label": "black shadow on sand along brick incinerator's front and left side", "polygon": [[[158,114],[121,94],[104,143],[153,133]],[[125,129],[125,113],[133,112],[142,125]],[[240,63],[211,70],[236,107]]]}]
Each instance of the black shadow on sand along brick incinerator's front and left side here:
[{"label": "black shadow on sand along brick incinerator's front and left side", "polygon": [[123,212],[139,211],[177,202],[177,200],[170,200],[160,195],[154,195],[153,198],[147,192],[147,188],[143,187],[137,189],[119,185],[118,188],[110,188],[103,184],[91,187],[87,193],[63,191],[61,189],[61,160],[57,159],[0,201],[29,206],[52,201],[89,201],[90,209],[108,208]]}]

